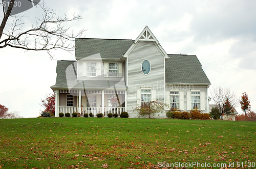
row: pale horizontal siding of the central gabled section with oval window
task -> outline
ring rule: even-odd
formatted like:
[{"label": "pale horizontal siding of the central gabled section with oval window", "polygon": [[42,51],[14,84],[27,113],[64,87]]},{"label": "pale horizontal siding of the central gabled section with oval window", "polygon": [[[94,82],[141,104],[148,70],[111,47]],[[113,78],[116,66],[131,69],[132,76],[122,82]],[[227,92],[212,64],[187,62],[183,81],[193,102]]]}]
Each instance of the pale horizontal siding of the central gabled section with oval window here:
[{"label": "pale horizontal siding of the central gabled section with oval window", "polygon": [[[127,57],[128,63],[128,89],[127,89],[127,111],[129,117],[136,118],[133,109],[137,106],[137,90],[151,88],[155,90],[156,99],[164,102],[164,64],[165,59],[159,49],[152,41],[139,41],[133,51]],[[148,60],[151,64],[151,72],[144,75],[141,64]],[[164,117],[164,114],[160,114]]]}]

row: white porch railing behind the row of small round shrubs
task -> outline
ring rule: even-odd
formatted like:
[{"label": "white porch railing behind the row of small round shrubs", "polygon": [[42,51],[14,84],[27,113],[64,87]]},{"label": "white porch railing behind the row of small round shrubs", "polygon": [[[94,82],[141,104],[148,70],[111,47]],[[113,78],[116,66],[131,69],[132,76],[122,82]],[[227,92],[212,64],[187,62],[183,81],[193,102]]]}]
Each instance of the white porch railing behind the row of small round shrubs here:
[{"label": "white porch railing behind the row of small round shrubs", "polygon": [[[80,107],[81,116],[84,114],[90,114],[92,112],[93,116],[100,114],[102,111],[102,107]],[[66,106],[59,106],[59,112],[66,114],[69,112],[72,114],[73,112],[79,112],[79,107],[66,107]],[[102,112],[103,116],[107,117],[109,113],[118,114],[120,116],[121,112],[124,111],[124,107],[104,107],[104,112]]]}]

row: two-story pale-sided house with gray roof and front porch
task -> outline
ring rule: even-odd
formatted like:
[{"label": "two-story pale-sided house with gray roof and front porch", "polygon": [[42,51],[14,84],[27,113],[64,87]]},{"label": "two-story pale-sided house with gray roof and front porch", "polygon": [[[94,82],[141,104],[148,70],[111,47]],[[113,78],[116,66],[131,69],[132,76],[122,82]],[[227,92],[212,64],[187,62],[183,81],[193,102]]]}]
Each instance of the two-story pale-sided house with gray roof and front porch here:
[{"label": "two-story pale-sided house with gray roof and front porch", "polygon": [[78,38],[75,48],[76,60],[57,62],[56,117],[127,111],[136,118],[134,108],[150,100],[208,112],[210,81],[196,55],[167,54],[147,26],[135,40]]}]

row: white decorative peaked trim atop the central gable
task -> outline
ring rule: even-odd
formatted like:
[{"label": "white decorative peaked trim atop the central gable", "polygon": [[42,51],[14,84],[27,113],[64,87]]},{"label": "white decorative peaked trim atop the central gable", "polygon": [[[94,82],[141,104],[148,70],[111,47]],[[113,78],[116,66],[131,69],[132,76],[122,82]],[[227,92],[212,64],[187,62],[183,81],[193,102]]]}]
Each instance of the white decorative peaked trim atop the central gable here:
[{"label": "white decorative peaked trim atop the central gable", "polygon": [[146,26],[144,30],[140,33],[140,35],[136,38],[134,43],[130,46],[130,48],[124,53],[123,58],[127,58],[127,56],[133,51],[134,47],[138,44],[138,41],[153,41],[159,51],[164,55],[165,59],[169,59],[167,53],[164,51],[160,43],[154,34],[150,31],[150,29]]}]

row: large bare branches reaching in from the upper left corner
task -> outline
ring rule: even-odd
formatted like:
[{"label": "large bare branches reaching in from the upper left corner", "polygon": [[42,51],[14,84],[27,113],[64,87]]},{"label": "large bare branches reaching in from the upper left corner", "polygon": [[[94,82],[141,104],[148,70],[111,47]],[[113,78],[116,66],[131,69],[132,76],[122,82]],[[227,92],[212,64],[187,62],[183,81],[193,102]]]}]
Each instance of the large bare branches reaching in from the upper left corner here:
[{"label": "large bare branches reaching in from the upper left corner", "polygon": [[82,36],[85,30],[82,29],[75,34],[70,27],[65,28],[63,23],[79,20],[81,16],[73,14],[71,18],[68,18],[65,14],[65,17],[60,17],[53,9],[46,8],[45,3],[37,4],[38,10],[42,10],[42,17],[36,18],[36,24],[24,30],[28,23],[23,21],[23,16],[15,15],[12,22],[8,24],[15,1],[11,0],[8,9],[5,10],[7,6],[2,0],[4,17],[0,26],[0,48],[10,46],[25,50],[46,50],[51,58],[51,49],[74,50],[74,43],[71,41]]}]

